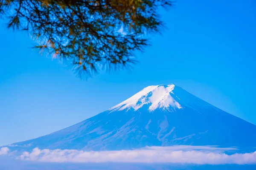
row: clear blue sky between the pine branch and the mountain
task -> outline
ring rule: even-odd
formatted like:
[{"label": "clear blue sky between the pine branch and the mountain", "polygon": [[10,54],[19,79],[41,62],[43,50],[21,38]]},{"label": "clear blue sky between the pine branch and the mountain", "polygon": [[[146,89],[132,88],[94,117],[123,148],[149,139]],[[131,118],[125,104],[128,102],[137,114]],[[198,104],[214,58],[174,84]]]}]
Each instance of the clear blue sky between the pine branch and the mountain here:
[{"label": "clear blue sky between the pine branch and the mountain", "polygon": [[82,81],[0,23],[0,146],[73,125],[148,85],[175,83],[256,124],[256,2],[177,0],[132,71]]}]

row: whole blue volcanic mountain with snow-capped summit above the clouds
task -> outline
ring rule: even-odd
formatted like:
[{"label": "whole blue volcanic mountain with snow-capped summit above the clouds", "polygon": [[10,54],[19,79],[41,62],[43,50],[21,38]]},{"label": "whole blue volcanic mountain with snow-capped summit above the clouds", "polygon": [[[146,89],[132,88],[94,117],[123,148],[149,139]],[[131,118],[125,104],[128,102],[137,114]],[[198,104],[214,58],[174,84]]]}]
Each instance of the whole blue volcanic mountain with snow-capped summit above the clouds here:
[{"label": "whole blue volcanic mountain with snow-capped summit above the clouds", "polygon": [[76,125],[12,144],[17,148],[121,150],[145,146],[256,147],[256,125],[171,85],[144,88]]}]

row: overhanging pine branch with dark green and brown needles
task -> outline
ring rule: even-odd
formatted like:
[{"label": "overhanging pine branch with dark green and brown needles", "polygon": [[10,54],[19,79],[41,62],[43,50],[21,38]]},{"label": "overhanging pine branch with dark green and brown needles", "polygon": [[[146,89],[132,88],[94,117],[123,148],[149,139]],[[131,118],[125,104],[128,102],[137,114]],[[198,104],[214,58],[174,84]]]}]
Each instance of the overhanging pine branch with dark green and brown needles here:
[{"label": "overhanging pine branch with dark green and brown needles", "polygon": [[25,30],[36,48],[67,59],[79,75],[134,63],[134,51],[148,45],[146,34],[163,23],[158,7],[170,0],[0,0],[8,27]]}]

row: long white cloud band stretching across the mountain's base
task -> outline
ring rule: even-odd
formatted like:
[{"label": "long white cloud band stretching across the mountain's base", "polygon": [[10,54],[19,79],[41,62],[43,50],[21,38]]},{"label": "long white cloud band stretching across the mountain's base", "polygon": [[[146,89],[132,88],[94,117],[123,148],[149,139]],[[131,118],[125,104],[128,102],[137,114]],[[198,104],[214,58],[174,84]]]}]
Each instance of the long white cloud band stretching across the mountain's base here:
[{"label": "long white cloud band stretching across the mountain's base", "polygon": [[136,162],[136,163],[181,163],[181,164],[256,164],[256,152],[234,153],[236,148],[210,146],[145,147],[137,150],[82,151],[40,150],[24,152],[19,159],[44,162]]}]

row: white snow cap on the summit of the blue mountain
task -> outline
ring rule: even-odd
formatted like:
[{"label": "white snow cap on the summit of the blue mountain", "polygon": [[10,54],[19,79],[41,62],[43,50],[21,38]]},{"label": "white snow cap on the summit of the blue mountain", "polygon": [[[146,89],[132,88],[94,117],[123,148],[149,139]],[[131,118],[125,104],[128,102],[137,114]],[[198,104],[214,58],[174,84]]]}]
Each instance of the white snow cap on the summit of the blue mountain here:
[{"label": "white snow cap on the summit of the blue mountain", "polygon": [[[174,84],[170,85],[151,85],[134,94],[129,99],[119,103],[118,105],[110,108],[109,111],[122,111],[134,109],[137,111],[144,105],[148,106],[149,111],[154,111],[157,108],[173,111],[176,108],[182,108],[171,94],[175,88]],[[169,109],[172,108],[172,109]]]}]

